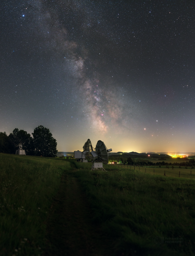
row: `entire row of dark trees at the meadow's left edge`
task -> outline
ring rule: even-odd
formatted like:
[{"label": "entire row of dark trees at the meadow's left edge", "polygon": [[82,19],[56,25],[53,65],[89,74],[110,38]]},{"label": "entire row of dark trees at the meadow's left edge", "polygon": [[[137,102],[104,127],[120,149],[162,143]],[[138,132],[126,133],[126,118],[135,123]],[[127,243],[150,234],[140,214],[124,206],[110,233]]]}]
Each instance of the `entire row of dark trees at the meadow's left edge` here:
[{"label": "entire row of dark trees at the meadow's left edge", "polygon": [[48,128],[40,125],[34,129],[32,135],[18,128],[9,135],[0,132],[0,153],[15,154],[17,146],[22,144],[27,155],[57,156],[57,141]]}]

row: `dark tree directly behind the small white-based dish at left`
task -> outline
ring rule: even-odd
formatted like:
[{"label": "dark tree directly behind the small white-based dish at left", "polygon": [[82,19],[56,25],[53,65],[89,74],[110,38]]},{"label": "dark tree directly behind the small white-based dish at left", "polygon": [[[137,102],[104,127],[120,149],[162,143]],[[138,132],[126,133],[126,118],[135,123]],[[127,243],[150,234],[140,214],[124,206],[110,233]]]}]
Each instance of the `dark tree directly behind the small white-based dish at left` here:
[{"label": "dark tree directly behind the small white-based dish at left", "polygon": [[27,133],[25,130],[15,128],[8,137],[14,147],[17,147],[21,143],[23,145],[23,149],[26,151],[26,154],[33,154],[33,138],[31,137],[30,133]]}]

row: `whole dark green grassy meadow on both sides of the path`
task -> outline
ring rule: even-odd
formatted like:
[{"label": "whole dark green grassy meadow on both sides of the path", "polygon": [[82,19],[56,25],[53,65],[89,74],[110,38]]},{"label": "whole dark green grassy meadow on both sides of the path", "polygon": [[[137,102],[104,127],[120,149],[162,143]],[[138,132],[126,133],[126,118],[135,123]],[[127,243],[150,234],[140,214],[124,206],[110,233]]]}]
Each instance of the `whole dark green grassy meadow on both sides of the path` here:
[{"label": "whole dark green grassy meadow on both sides of the path", "polygon": [[[87,217],[89,225],[100,227],[112,244],[112,254],[105,255],[195,255],[194,170],[190,174],[190,169],[140,167],[139,171],[139,167],[134,170],[133,166],[127,169],[126,166],[109,164],[103,165],[106,171],[92,171],[91,166],[92,163],[71,159],[1,153],[0,255],[48,255],[45,254],[48,220],[58,222],[55,216],[64,217],[64,212],[55,215],[60,207],[56,213],[52,209],[53,205],[64,200],[63,193],[73,203],[82,193],[85,194],[81,200],[90,212],[90,219]],[[163,176],[164,170],[166,177]],[[63,175],[65,183],[61,181]],[[69,189],[63,192],[66,186]],[[54,199],[57,193],[60,201]],[[81,231],[84,225],[86,211],[79,202],[76,215],[67,215],[72,218],[67,223],[74,224],[73,237],[77,232],[74,218],[80,216],[78,230]],[[64,207],[66,210],[66,203]],[[66,227],[62,226],[63,229]],[[60,239],[57,230],[59,246],[63,244]],[[104,241],[98,243],[101,247]],[[62,255],[74,255],[70,248],[67,254],[66,246],[63,247]]]}]

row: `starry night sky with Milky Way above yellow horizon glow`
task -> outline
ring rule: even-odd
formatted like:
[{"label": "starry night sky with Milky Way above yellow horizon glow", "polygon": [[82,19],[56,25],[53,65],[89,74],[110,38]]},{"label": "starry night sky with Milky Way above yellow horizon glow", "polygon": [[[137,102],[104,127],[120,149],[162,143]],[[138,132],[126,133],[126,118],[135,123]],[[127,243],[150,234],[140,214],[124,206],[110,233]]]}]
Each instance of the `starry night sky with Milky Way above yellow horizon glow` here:
[{"label": "starry night sky with Milky Way above yellow horizon glow", "polygon": [[194,1],[1,1],[0,131],[59,151],[195,151]]}]

